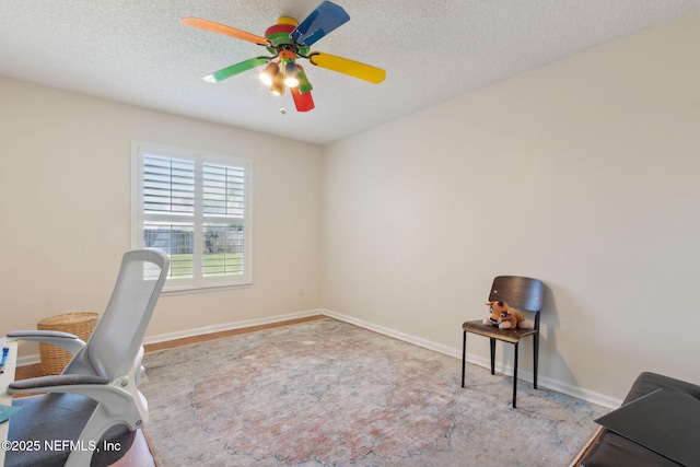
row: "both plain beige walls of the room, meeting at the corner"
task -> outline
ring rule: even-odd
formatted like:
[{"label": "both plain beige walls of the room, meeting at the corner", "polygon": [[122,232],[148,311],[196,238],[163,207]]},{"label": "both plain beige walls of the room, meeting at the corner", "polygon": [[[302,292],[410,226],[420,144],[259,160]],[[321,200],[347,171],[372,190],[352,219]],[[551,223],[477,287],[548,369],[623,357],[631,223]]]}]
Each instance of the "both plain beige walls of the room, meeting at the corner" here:
[{"label": "both plain beige walls of the room, meeting at the corner", "polygon": [[700,383],[697,44],[700,14],[326,148],[0,78],[0,334],[102,311],[142,140],[255,164],[255,284],[163,296],[149,336],[324,306],[458,354],[493,276],[527,275],[544,385]]}]

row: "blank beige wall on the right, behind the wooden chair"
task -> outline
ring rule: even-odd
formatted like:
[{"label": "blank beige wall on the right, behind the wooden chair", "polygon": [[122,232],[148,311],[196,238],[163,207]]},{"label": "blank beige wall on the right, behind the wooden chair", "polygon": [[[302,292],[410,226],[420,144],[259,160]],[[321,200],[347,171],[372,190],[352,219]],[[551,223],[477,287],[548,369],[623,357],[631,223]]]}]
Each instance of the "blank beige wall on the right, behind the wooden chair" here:
[{"label": "blank beige wall on the right, behind the wooden chair", "polygon": [[536,277],[545,382],[700,383],[698,44],[696,13],[328,147],[324,306],[457,354],[494,276]]}]

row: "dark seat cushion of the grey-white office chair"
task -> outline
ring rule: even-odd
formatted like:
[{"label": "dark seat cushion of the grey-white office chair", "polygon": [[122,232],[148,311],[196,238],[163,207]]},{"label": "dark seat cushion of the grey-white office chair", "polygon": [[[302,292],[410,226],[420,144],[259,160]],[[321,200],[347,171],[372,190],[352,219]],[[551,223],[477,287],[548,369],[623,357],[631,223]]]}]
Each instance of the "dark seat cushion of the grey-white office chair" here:
[{"label": "dark seat cushion of the grey-white office chair", "polygon": [[[47,394],[20,397],[12,405],[22,407],[10,419],[8,440],[22,450],[5,453],[5,467],[62,466],[72,448],[94,451],[92,466],[107,466],[131,447],[136,432],[126,425],[109,429],[102,440],[81,445],[80,437],[97,402],[77,394]],[[103,450],[105,442],[118,443],[119,450]]]}]

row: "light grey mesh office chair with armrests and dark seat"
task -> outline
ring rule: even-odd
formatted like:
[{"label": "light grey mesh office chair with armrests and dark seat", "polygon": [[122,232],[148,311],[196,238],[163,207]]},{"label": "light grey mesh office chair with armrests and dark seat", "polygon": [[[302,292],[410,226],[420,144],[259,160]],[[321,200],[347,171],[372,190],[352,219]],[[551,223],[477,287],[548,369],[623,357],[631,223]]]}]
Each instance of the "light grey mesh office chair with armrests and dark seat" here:
[{"label": "light grey mesh office chair with armrests and dark seat", "polygon": [[[59,331],[15,331],[8,339],[52,343],[73,354],[60,375],[22,380],[10,394],[22,409],[10,418],[8,440],[32,443],[9,451],[5,467],[107,466],[124,456],[149,419],[137,388],[143,335],[167,277],[170,258],[128,252],[107,307],[88,343]],[[19,445],[19,444],[18,444]]]}]

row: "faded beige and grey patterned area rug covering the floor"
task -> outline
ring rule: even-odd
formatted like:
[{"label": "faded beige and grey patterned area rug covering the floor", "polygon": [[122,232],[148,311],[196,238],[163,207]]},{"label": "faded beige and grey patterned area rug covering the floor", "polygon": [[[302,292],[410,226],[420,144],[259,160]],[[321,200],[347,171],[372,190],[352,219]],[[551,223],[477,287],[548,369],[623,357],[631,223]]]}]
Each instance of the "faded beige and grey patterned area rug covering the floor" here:
[{"label": "faded beige and grey patterned area rug covering the floor", "polygon": [[336,319],[148,353],[159,466],[567,466],[607,411]]}]

